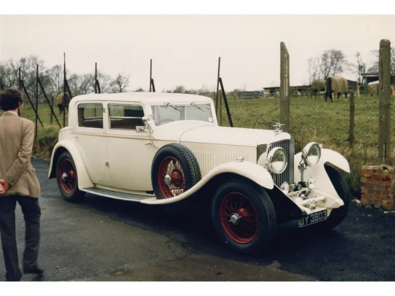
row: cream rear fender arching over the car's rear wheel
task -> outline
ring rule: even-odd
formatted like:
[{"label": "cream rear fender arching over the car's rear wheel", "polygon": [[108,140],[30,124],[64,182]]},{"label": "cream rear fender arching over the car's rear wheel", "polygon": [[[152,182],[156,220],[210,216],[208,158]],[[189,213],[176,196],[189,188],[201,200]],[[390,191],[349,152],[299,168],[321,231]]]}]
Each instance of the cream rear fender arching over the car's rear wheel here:
[{"label": "cream rear fender arching over the car's rear wheel", "polygon": [[56,177],[56,163],[63,151],[68,151],[71,154],[71,157],[73,157],[77,170],[78,188],[94,187],[95,185],[92,183],[91,178],[86,171],[84,160],[82,159],[78,148],[70,140],[61,140],[55,145],[55,147],[53,147],[51,162],[49,164],[48,179]]}]

